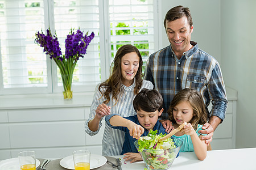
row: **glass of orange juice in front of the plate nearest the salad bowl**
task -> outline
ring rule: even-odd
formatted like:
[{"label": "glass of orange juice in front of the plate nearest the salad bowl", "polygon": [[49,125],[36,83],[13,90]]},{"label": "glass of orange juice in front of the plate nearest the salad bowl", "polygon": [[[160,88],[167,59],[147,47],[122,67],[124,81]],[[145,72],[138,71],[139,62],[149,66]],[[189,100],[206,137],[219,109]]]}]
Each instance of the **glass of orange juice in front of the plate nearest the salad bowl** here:
[{"label": "glass of orange juice in front of the plate nearest the salad bowl", "polygon": [[79,150],[73,152],[75,170],[90,170],[90,151]]}]

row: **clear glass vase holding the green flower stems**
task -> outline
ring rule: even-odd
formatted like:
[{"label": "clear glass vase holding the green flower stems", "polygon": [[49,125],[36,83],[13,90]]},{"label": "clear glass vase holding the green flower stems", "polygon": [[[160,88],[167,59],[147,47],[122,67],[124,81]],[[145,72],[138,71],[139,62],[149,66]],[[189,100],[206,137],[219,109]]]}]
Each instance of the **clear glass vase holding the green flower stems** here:
[{"label": "clear glass vase holding the green flower stems", "polygon": [[73,98],[73,91],[71,91],[72,78],[73,78],[72,74],[65,74],[65,75],[61,74],[61,79],[62,79],[63,88],[64,88],[64,91],[63,91],[64,100],[72,100]]}]

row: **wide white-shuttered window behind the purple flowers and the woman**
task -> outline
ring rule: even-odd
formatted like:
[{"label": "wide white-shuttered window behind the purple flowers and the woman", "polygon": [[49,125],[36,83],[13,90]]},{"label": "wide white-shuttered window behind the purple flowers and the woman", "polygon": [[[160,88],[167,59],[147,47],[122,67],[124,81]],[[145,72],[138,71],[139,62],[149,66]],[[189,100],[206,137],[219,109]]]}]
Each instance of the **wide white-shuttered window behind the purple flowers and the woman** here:
[{"label": "wide white-shuttered window behind the purple flowers and the woman", "polygon": [[[154,41],[153,0],[0,0],[0,95],[63,91],[59,69],[34,43],[36,31],[56,32],[64,41],[71,28],[94,32],[87,54],[77,62],[73,91],[94,91],[109,76],[118,48],[133,44],[143,61]],[[156,26],[155,26],[156,27]]]}]

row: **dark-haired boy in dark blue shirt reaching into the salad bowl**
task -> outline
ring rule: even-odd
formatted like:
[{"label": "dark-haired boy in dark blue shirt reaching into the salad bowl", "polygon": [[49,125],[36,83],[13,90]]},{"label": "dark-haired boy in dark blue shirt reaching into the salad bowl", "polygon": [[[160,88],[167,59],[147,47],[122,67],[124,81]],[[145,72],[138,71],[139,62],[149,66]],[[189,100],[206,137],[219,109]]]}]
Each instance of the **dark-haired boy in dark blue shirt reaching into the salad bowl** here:
[{"label": "dark-haired boy in dark blue shirt reaching into the salad bowl", "polygon": [[158,134],[166,134],[166,129],[159,122],[158,117],[163,112],[163,98],[156,90],[143,89],[133,100],[133,107],[137,112],[135,116],[121,117],[117,114],[106,116],[106,124],[114,129],[125,131],[125,142],[121,155],[126,160],[142,160],[134,142],[141,136],[147,136],[149,131],[158,130]]}]

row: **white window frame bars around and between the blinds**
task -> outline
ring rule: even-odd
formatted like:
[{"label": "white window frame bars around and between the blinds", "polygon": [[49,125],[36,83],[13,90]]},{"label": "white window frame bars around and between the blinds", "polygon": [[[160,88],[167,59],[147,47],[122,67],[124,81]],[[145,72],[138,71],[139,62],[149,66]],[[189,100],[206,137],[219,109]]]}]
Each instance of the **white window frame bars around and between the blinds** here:
[{"label": "white window frame bars around and between the blinds", "polygon": [[[45,30],[51,28],[55,32],[54,20],[54,1],[44,2],[44,25]],[[153,1],[154,5],[154,50],[159,49],[159,23],[158,23],[158,0]],[[110,19],[109,1],[98,0],[99,24],[100,24],[100,62],[101,62],[101,82],[104,82],[110,75],[110,65],[112,60],[110,42]],[[0,44],[1,45],[1,44]],[[1,53],[1,51],[0,51]],[[150,56],[150,54],[149,54]],[[149,57],[148,56],[148,57]],[[59,94],[63,92],[63,86],[57,86],[57,67],[56,63],[46,56],[47,65],[47,87],[26,87],[26,88],[3,88],[2,61],[0,59],[0,95],[28,95],[28,94]],[[96,86],[73,86],[73,92],[93,92]]]}]

